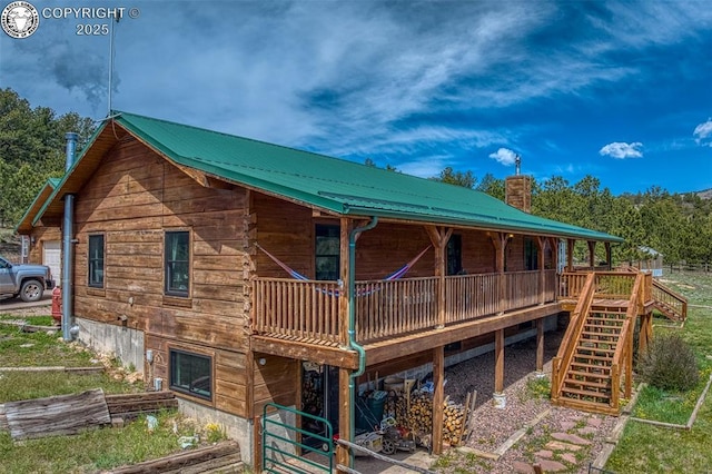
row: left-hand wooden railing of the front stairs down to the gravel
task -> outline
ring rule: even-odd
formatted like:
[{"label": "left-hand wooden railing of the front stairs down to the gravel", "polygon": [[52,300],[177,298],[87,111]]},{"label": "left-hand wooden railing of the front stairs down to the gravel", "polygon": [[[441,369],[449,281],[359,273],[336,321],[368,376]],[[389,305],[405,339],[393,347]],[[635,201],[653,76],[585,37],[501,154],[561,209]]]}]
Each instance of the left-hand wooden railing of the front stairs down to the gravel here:
[{"label": "left-hand wooden railing of the front stairs down to the gravel", "polygon": [[576,343],[583,332],[584,323],[591,312],[593,304],[593,295],[595,293],[595,274],[592,271],[586,277],[576,308],[571,315],[568,327],[564,337],[558,346],[558,353],[556,357],[552,359],[552,399],[556,401],[561,394],[564,378],[571,361],[573,359],[574,352],[576,349]]}]

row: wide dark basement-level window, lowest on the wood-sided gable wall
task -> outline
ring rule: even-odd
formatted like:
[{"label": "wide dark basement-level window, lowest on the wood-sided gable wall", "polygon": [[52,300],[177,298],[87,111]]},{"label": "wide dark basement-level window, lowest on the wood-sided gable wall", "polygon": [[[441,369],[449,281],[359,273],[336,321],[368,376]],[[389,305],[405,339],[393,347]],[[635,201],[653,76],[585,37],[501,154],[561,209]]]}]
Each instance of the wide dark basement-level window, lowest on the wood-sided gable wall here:
[{"label": "wide dark basement-level window, lowest on the wood-sided gable wall", "polygon": [[212,399],[212,357],[170,349],[170,388]]}]

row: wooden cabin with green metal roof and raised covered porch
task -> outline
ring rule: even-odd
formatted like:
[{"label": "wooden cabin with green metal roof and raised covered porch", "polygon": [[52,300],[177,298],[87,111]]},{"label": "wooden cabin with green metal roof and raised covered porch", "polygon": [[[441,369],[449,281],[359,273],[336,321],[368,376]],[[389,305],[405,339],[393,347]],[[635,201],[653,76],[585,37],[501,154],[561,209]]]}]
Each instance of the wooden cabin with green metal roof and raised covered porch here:
[{"label": "wooden cabin with green metal roof and raised covered porch", "polygon": [[[507,192],[527,210],[526,177]],[[505,337],[523,326],[541,369],[573,243],[594,266],[596,244],[610,263],[621,241],[472,189],[126,112],[19,229],[56,229],[69,195],[78,338],[221,423],[256,466],[265,407],[298,423],[273,408],[303,407],[305,364],[330,374],[322,414],[346,440],[375,372],[432,364],[437,407],[445,356],[494,343],[501,393]]]}]

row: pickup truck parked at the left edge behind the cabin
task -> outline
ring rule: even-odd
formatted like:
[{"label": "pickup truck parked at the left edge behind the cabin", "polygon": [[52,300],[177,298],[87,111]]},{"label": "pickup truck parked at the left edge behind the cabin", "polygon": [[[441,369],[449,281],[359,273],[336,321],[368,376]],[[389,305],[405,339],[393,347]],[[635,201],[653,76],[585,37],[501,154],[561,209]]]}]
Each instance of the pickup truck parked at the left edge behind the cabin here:
[{"label": "pickup truck parked at the left edge behind the cabin", "polygon": [[55,288],[49,267],[44,265],[11,264],[0,257],[0,296],[19,296],[23,302],[38,302],[44,289]]}]

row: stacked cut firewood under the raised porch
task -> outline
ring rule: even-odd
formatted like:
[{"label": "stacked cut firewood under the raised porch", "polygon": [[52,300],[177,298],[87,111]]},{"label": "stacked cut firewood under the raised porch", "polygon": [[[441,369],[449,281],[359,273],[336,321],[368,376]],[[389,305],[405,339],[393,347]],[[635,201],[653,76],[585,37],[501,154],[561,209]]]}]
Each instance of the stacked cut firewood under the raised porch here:
[{"label": "stacked cut firewood under the raised porch", "polygon": [[[467,422],[466,405],[446,399],[443,408],[443,441],[451,446],[457,446],[467,434],[465,429]],[[429,438],[428,435],[433,429],[433,394],[414,392],[411,395],[411,409],[408,411],[406,426],[419,438]]]}]

